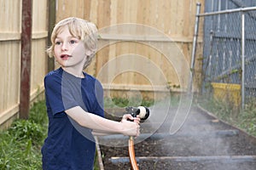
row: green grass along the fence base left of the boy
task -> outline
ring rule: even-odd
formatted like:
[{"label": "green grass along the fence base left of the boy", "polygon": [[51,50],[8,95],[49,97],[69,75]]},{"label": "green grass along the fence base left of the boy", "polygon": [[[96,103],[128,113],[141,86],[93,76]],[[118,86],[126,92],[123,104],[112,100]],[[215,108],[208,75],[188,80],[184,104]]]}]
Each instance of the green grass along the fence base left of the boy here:
[{"label": "green grass along the fence base left of the boy", "polygon": [[28,120],[16,120],[0,133],[0,169],[41,169],[41,145],[47,133],[44,101],[33,105]]}]

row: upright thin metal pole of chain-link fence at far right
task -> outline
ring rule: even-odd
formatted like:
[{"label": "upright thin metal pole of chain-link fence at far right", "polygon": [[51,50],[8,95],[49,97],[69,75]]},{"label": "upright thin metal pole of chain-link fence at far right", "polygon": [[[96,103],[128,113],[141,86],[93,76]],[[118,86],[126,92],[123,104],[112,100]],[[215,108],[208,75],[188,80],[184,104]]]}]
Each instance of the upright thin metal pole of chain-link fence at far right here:
[{"label": "upright thin metal pole of chain-link fence at far right", "polygon": [[245,15],[241,14],[241,109],[244,109],[244,75],[245,75]]}]

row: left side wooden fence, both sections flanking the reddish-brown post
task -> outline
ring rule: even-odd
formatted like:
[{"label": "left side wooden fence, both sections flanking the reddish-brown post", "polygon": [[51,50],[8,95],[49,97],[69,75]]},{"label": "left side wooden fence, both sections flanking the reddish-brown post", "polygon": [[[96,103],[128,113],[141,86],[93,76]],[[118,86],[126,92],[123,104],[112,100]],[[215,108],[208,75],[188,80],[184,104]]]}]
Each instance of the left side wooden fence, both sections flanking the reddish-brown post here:
[{"label": "left side wooden fence, both sections flanking the reddish-brown post", "polygon": [[[0,1],[0,125],[8,126],[20,106],[20,35],[22,1]],[[44,92],[47,72],[47,0],[32,2],[31,100]]]}]

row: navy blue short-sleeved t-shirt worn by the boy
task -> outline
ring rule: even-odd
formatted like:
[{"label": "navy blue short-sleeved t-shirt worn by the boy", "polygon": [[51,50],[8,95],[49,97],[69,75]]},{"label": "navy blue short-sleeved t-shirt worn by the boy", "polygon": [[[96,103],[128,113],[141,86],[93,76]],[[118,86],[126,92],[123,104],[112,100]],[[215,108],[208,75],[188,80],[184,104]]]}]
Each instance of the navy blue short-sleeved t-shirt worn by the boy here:
[{"label": "navy blue short-sleeved t-shirt worn by the boy", "polygon": [[96,146],[91,130],[80,127],[65,111],[80,106],[104,116],[101,83],[85,72],[79,78],[59,68],[44,77],[44,88],[49,129],[42,147],[43,169],[93,169]]}]

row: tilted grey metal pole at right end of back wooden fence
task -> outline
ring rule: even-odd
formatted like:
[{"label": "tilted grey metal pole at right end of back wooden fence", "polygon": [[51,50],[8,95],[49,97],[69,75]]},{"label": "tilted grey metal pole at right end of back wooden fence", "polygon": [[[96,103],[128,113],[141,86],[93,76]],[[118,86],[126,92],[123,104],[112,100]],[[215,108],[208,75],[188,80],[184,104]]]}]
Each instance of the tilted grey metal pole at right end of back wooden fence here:
[{"label": "tilted grey metal pole at right end of back wooden fence", "polygon": [[189,89],[188,89],[188,92],[189,92],[189,93],[192,92],[192,87],[193,87],[194,65],[195,65],[195,52],[196,52],[196,44],[197,44],[197,36],[198,36],[198,26],[199,26],[199,14],[200,14],[200,9],[201,9],[201,3],[196,3],[195,30],[194,30],[193,48],[192,48],[192,54],[191,54]]}]

